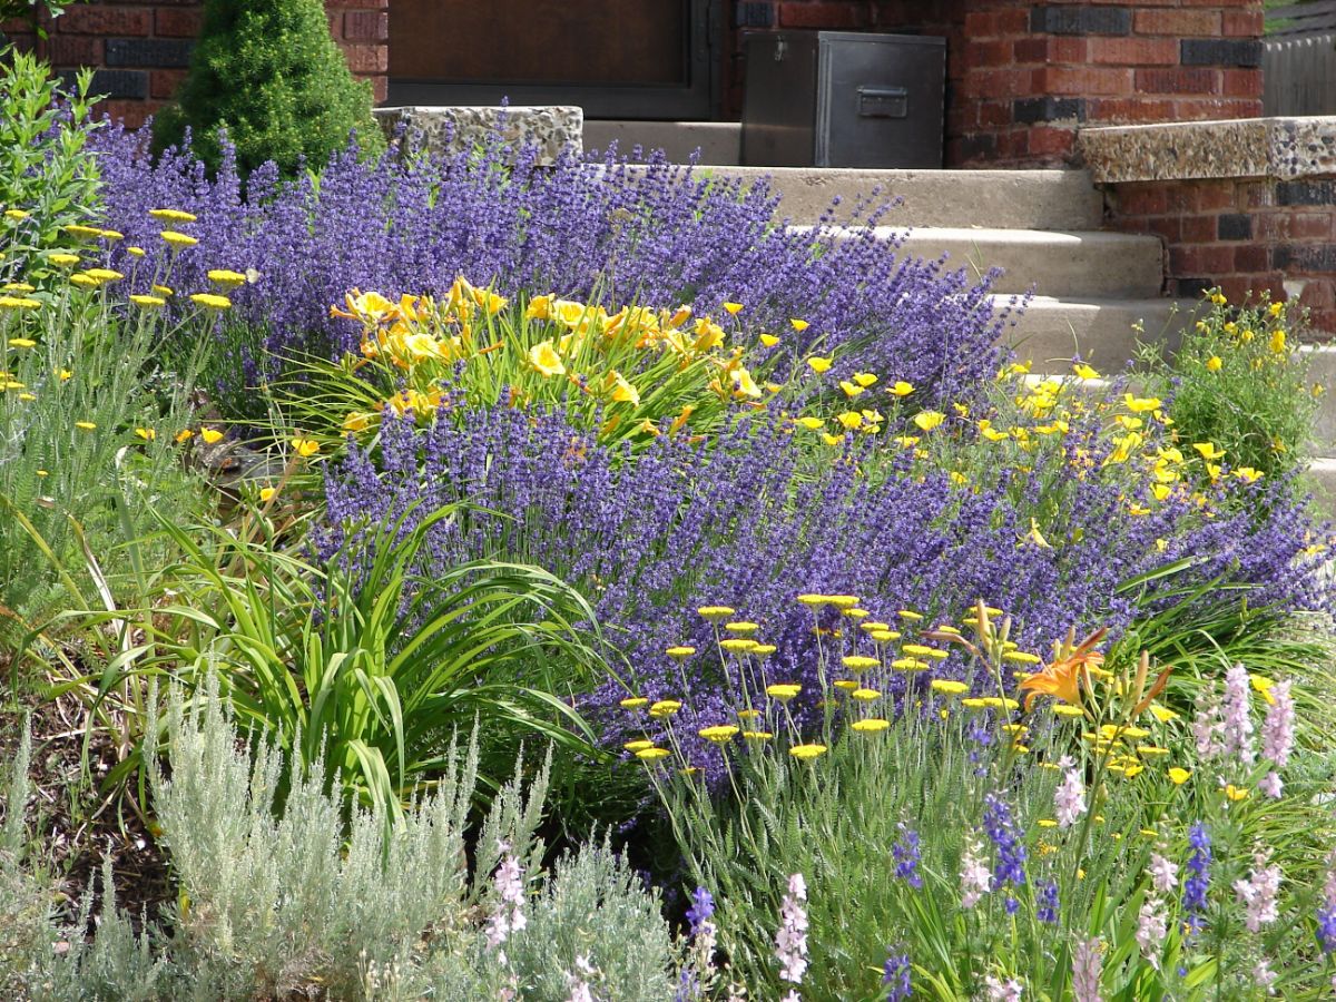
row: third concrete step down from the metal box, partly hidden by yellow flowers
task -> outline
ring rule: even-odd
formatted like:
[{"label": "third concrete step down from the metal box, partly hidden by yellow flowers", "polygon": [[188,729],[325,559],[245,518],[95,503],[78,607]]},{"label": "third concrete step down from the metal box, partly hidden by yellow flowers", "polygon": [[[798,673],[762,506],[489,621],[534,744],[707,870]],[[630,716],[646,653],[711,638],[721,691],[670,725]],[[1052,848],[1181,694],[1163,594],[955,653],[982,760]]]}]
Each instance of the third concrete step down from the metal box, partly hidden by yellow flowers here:
[{"label": "third concrete step down from the metal box, partly hidden by yellow flowers", "polygon": [[[1011,302],[1015,297],[993,297],[994,309]],[[1116,373],[1136,358],[1138,342],[1173,351],[1197,309],[1196,302],[1173,299],[1075,302],[1039,295],[1013,318],[1002,341],[1039,373],[1070,371],[1075,355],[1101,373]]]}]

